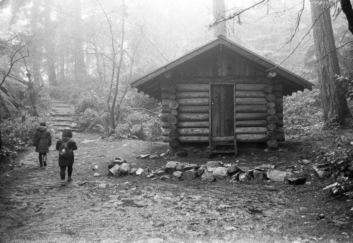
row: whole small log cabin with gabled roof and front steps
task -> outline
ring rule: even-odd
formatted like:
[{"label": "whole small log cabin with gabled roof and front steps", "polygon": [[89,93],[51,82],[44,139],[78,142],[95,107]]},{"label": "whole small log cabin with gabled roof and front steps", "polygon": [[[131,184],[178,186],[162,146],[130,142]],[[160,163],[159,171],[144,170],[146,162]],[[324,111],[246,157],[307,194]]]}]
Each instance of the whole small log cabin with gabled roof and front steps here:
[{"label": "whole small log cabin with gabled roof and front steps", "polygon": [[283,96],[313,84],[223,35],[134,80],[162,103],[163,141],[208,142],[209,155],[237,154],[237,143],[285,141]]}]

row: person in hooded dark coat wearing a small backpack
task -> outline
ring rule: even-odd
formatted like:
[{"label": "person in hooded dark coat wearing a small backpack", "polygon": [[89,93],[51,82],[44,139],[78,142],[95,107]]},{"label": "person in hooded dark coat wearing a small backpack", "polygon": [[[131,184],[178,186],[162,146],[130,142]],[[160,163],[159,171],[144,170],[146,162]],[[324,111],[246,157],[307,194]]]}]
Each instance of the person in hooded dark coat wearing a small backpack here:
[{"label": "person in hooded dark coat wearing a small backpack", "polygon": [[61,186],[65,186],[65,174],[67,166],[67,181],[72,181],[72,165],[75,159],[73,154],[74,150],[77,150],[76,142],[72,139],[71,129],[64,129],[62,131],[61,138],[56,142],[56,150],[59,150],[60,146],[64,143],[67,143],[67,148],[71,151],[68,158],[59,157],[59,166],[60,166],[60,177],[61,177]]}]

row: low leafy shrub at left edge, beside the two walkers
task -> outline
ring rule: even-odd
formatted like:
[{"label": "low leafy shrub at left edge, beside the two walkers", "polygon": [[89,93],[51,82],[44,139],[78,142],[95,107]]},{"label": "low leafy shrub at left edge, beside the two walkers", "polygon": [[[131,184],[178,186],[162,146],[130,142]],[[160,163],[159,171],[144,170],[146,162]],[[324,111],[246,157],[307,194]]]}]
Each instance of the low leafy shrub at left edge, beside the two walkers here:
[{"label": "low leafy shrub at left edge, beside the two walkers", "polygon": [[0,157],[15,157],[19,151],[33,142],[35,128],[41,121],[37,117],[29,117],[26,121],[20,119],[1,121],[2,148]]}]

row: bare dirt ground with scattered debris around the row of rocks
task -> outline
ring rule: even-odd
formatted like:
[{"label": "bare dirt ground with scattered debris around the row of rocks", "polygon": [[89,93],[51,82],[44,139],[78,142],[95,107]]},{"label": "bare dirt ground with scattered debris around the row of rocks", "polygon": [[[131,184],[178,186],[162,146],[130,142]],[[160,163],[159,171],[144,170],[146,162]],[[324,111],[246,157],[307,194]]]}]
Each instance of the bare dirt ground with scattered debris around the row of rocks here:
[{"label": "bare dirt ground with scattered debris around the row of rocks", "polygon": [[[57,151],[50,151],[47,168],[19,165],[37,161],[34,147],[16,161],[1,164],[0,242],[353,242],[352,201],[325,196],[321,189],[326,182],[310,174],[310,165],[298,164],[300,159],[317,156],[318,151],[312,151],[318,144],[294,146],[289,140],[287,152],[243,147],[235,160],[231,156],[214,159],[251,167],[276,164],[279,170],[297,165],[311,185],[229,180],[211,184],[112,178],[107,165],[118,156],[136,168],[155,170],[171,160],[205,164],[207,154],[142,160],[136,156],[163,152],[167,145],[135,140],[81,143],[97,138],[74,135],[79,149],[73,181],[65,187],[60,186]],[[94,177],[94,173],[101,175]],[[79,186],[84,180],[88,183]]]}]

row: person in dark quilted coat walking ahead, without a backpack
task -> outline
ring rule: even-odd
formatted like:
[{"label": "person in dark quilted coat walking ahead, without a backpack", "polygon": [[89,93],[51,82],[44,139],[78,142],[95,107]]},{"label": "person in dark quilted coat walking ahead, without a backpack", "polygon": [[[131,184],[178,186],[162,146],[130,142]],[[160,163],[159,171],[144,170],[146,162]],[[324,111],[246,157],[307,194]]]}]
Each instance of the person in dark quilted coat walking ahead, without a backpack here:
[{"label": "person in dark quilted coat walking ahead, without a backpack", "polygon": [[40,126],[36,128],[34,133],[33,141],[38,141],[36,145],[36,152],[39,153],[39,166],[47,166],[47,153],[49,153],[49,147],[52,145],[52,134],[47,129],[45,122],[41,122]]}]

